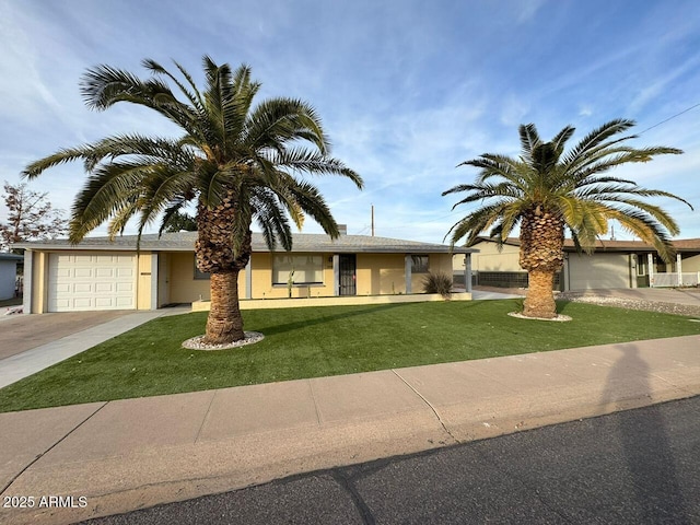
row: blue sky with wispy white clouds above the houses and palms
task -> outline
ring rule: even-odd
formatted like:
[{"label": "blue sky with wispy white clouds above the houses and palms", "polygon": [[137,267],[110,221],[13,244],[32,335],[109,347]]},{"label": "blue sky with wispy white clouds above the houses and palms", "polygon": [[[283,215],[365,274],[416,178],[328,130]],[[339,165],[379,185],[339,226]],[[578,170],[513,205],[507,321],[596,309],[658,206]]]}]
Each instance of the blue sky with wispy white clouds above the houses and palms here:
[{"label": "blue sky with wispy white clouds above the houses and palms", "polygon": [[[143,58],[175,59],[200,79],[205,54],[248,63],[259,100],[316,107],[334,155],[365,180],[360,192],[315,179],[349,233],[370,232],[374,205],[377,235],[442,242],[469,210],[441,197],[474,180],[456,165],[517,155],[527,122],[546,140],[573,125],[573,144],[609,119],[637,120],[634,145],[686,153],[616,175],[700,210],[697,0],[0,0],[0,180],[16,184],[27,163],[115,132],[174,136],[137,107],[89,110],[79,79],[100,63],[144,77]],[[84,179],[72,164],[30,187],[68,211]],[[700,211],[660,203],[680,237],[700,237]],[[304,232],[320,229],[310,220]]]}]

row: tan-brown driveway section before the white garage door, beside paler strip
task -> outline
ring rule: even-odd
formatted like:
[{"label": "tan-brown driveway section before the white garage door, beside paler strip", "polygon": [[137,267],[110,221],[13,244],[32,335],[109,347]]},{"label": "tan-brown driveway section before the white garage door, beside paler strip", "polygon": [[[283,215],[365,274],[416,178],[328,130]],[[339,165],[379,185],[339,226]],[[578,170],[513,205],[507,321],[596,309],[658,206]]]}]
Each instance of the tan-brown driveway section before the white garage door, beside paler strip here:
[{"label": "tan-brown driveway section before the white garage door, beside paler strip", "polygon": [[133,311],[1,316],[0,360],[129,314]]}]

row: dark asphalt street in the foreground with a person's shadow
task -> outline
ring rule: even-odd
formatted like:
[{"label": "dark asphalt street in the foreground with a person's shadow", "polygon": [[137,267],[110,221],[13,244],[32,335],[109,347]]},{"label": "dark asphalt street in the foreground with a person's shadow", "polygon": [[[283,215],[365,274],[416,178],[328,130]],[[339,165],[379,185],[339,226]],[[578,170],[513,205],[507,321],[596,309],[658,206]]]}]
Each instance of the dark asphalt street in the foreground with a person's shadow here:
[{"label": "dark asphalt street in the foreground with a person's shadow", "polygon": [[700,524],[700,397],[84,523]]}]

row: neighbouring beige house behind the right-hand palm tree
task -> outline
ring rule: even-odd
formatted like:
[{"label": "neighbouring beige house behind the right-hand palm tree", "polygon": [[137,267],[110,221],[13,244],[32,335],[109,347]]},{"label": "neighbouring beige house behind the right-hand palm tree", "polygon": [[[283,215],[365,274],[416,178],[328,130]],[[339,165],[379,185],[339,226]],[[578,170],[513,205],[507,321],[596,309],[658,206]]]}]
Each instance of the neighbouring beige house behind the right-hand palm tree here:
[{"label": "neighbouring beige house behind the right-hand palm tree", "polygon": [[[641,241],[598,241],[592,255],[579,254],[571,240],[564,241],[564,267],[557,276],[559,290],[697,285],[700,278],[700,238],[674,241],[676,261],[666,265],[656,250]],[[474,283],[495,287],[527,287],[527,272],[518,261],[520,240],[498,243],[479,237],[472,246]],[[464,269],[463,257],[453,261],[455,272]]]}]

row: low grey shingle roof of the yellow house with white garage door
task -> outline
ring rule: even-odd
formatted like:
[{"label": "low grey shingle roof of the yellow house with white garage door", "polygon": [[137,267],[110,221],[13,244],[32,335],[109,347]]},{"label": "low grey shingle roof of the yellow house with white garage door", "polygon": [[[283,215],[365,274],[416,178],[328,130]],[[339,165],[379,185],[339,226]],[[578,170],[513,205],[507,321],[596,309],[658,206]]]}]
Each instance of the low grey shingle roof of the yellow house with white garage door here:
[{"label": "low grey shingle roof of the yellow house with white garage door", "polygon": [[[147,234],[141,236],[140,249],[149,252],[194,252],[197,232],[177,232]],[[108,237],[85,237],[77,245],[71,245],[66,238],[51,241],[36,241],[15,245],[27,249],[96,249],[96,250],[135,250],[136,235],[122,235],[109,241]],[[304,253],[337,253],[337,254],[446,254],[451,248],[444,244],[419,243],[387,237],[371,237],[368,235],[341,235],[332,240],[325,234],[293,234],[293,252]],[[282,250],[278,246],[278,250]],[[253,233],[253,252],[270,252],[265,244],[261,233]],[[474,248],[455,246],[452,253],[468,254],[477,252]]]}]

